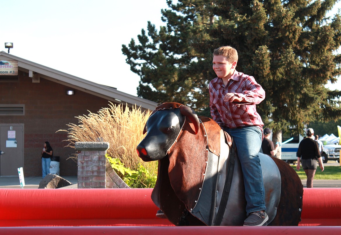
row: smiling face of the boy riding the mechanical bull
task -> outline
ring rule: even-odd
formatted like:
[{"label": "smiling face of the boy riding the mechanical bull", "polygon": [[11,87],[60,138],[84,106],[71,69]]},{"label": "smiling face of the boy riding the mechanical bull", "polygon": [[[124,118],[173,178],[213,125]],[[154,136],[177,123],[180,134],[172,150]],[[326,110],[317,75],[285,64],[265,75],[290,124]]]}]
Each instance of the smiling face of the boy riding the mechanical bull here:
[{"label": "smiling face of the boy riding the mechanical bull", "polygon": [[213,55],[213,70],[216,72],[218,78],[229,79],[234,73],[237,62],[229,63],[223,55]]}]

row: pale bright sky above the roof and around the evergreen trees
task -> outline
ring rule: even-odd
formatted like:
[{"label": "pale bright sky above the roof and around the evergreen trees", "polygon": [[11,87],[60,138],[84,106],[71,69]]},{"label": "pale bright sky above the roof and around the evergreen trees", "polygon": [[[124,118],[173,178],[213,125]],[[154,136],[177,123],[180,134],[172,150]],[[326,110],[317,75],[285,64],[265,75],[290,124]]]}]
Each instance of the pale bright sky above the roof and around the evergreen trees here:
[{"label": "pale bright sky above the roof and around the evergreen trees", "polygon": [[[122,44],[137,41],[147,21],[157,29],[166,0],[0,0],[0,51],[136,96]],[[334,8],[341,8],[341,3]],[[341,89],[341,81],[333,88]]]}]

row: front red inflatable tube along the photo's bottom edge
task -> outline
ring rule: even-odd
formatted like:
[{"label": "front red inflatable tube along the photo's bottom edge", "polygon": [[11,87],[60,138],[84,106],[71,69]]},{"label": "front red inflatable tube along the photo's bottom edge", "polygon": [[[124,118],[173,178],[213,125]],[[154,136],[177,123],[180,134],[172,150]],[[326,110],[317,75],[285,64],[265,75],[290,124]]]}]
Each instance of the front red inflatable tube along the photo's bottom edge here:
[{"label": "front red inflatable tube along the photo's bottom edge", "polygon": [[0,228],[0,234],[6,235],[182,235],[182,234],[195,234],[195,235],[210,235],[210,234],[238,234],[238,235],[281,235],[281,234],[299,234],[299,235],[312,235],[312,234],[328,234],[339,235],[341,233],[340,227],[281,227],[281,226],[262,226],[262,227],[243,227],[243,226],[186,226],[186,227],[159,227],[159,226],[129,226],[129,227],[16,227],[16,228]]}]

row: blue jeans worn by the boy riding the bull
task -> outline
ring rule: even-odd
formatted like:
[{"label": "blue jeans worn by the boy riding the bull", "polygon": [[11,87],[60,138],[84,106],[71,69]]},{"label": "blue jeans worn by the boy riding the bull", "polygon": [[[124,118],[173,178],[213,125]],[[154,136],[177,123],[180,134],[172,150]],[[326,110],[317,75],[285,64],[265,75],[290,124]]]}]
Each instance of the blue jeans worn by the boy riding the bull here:
[{"label": "blue jeans worn by the boy riding the bull", "polygon": [[244,177],[246,213],[266,211],[265,191],[258,152],[262,146],[262,131],[258,127],[224,128],[236,144]]}]

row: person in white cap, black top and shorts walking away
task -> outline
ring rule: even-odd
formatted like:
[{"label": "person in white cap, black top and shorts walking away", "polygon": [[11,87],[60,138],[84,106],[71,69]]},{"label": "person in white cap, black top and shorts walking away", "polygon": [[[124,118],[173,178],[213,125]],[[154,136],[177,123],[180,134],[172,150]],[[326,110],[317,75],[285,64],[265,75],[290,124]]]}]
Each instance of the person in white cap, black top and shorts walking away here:
[{"label": "person in white cap, black top and shorts walking away", "polygon": [[297,170],[300,170],[300,162],[302,162],[302,168],[307,175],[307,188],[313,187],[313,181],[315,172],[317,169],[317,161],[320,165],[321,171],[324,170],[321,153],[318,149],[318,144],[315,141],[314,130],[312,128],[307,129],[307,138],[302,139],[298,145],[297,156]]}]

